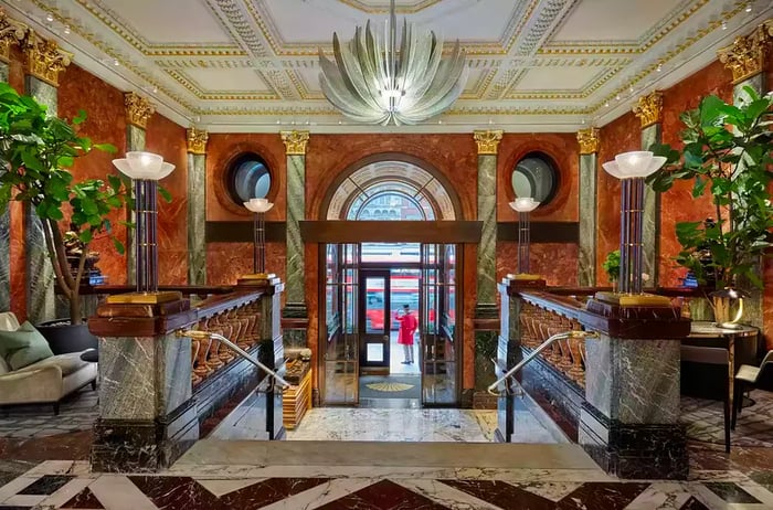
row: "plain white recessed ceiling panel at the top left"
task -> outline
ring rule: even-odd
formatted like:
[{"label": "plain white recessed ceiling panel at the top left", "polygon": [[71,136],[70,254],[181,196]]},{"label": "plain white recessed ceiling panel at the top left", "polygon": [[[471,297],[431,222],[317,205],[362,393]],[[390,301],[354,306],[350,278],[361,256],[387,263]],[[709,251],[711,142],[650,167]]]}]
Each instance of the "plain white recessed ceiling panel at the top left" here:
[{"label": "plain white recessed ceiling panel at the top left", "polygon": [[119,22],[150,44],[232,42],[201,0],[100,0]]}]

